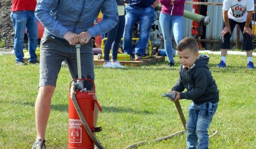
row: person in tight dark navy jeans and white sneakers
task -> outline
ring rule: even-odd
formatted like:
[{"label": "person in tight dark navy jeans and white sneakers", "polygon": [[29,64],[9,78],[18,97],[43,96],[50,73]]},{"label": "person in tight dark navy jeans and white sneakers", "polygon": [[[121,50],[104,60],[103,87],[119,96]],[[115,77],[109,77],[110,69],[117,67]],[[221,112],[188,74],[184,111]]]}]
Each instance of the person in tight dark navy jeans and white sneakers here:
[{"label": "person in tight dark navy jeans and white sneakers", "polygon": [[[118,23],[114,28],[112,28],[107,33],[107,41],[104,47],[104,68],[123,68],[124,66],[120,65],[117,62],[118,48],[121,41],[121,38],[124,33],[124,24],[125,24],[125,3],[130,3],[131,0],[116,0],[117,10],[118,10]],[[110,49],[112,51],[112,63],[109,61]]]}]

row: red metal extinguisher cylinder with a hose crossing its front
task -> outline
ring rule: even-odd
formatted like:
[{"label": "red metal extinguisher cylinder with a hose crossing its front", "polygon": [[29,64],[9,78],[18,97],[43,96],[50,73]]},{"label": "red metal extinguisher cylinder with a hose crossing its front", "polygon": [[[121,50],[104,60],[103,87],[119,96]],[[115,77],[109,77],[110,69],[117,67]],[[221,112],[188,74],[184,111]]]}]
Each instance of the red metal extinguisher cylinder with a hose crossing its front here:
[{"label": "red metal extinguisher cylinder with a hose crossing its front", "polygon": [[[94,95],[95,92],[75,91],[76,100],[91,130],[95,128]],[[94,149],[94,144],[75,110],[70,92],[68,95],[68,149]]]}]

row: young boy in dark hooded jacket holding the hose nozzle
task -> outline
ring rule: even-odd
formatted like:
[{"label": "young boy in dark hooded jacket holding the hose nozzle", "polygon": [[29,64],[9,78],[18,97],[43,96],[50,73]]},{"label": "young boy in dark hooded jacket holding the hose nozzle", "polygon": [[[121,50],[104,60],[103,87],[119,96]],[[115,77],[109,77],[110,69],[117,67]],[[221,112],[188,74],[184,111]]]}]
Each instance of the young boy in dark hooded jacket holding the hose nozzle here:
[{"label": "young boy in dark hooded jacket holding the hose nozzle", "polygon": [[176,94],[173,101],[192,100],[186,124],[187,149],[208,149],[208,128],[219,102],[219,90],[207,65],[209,56],[199,56],[197,41],[191,37],[181,40],[176,49],[182,66],[171,91]]}]

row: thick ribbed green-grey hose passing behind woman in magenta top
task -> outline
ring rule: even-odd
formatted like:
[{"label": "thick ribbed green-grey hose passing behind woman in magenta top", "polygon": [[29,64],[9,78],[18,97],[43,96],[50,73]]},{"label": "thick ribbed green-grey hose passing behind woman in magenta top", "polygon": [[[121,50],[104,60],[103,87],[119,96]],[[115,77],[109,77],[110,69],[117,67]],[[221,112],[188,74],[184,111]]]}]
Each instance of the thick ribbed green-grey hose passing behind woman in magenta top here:
[{"label": "thick ribbed green-grey hose passing behind woman in magenta top", "polygon": [[[161,11],[161,9],[162,9],[161,4],[158,4],[155,8],[155,10],[159,10],[159,11]],[[200,15],[200,14],[188,11],[188,10],[184,10],[184,17],[186,17],[188,19],[196,20],[204,25],[208,25],[210,23],[209,16]]]}]

